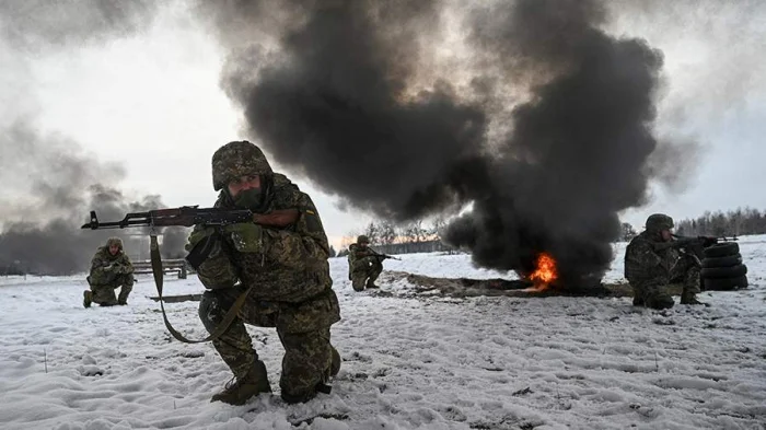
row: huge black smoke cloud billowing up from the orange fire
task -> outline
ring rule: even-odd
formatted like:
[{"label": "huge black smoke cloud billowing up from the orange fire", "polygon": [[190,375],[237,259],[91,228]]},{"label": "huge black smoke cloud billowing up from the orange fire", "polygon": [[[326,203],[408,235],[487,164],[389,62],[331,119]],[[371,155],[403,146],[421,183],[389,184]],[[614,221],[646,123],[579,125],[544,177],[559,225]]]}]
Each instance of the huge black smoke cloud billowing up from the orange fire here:
[{"label": "huge black smoke cloud billowing up from the orange fire", "polygon": [[[601,31],[595,1],[302,4],[277,51],[220,28],[240,36],[223,86],[279,163],[398,221],[472,202],[445,239],[480,266],[527,274],[549,252],[569,286],[603,275],[617,213],[659,173],[647,166],[658,50]],[[258,27],[254,10],[222,14]],[[445,11],[463,13],[471,54],[422,85]],[[449,83],[465,73],[473,92]]]}]

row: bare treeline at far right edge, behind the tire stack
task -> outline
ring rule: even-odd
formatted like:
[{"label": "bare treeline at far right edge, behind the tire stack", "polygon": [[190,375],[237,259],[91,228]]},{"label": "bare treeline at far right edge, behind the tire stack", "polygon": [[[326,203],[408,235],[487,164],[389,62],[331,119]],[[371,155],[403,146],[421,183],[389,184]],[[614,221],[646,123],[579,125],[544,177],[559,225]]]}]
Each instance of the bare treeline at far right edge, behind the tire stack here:
[{"label": "bare treeline at far right edge, behind the tire stack", "polygon": [[766,234],[766,211],[753,208],[707,211],[699,218],[676,222],[675,231],[686,236]]}]

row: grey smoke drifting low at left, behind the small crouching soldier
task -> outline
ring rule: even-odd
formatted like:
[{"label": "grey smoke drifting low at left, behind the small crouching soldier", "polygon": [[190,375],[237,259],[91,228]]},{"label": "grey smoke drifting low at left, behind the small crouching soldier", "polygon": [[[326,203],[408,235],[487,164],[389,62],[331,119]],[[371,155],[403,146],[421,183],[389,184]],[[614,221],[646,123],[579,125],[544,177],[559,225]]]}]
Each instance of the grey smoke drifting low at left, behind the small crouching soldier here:
[{"label": "grey smoke drifting low at left, behind the small crouching soldier", "polygon": [[[70,275],[88,270],[96,248],[120,236],[128,254],[143,245],[132,234],[141,229],[80,230],[91,210],[104,221],[126,212],[163,207],[159,196],[129,199],[118,190],[125,177],[118,164],[102,163],[58,136],[38,136],[27,123],[16,123],[0,136],[0,274]],[[183,255],[185,230],[166,229],[163,253]],[[147,245],[143,245],[147,246]]]}]

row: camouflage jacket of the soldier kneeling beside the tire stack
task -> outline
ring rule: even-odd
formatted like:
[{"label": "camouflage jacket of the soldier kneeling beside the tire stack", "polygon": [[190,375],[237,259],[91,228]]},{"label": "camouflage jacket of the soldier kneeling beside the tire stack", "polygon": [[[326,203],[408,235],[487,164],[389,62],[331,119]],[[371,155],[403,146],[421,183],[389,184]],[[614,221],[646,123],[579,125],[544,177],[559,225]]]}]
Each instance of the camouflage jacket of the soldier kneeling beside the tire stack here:
[{"label": "camouflage jacket of the soldier kneeling beside the tire stack", "polygon": [[671,281],[678,253],[666,242],[659,242],[648,232],[630,241],[625,251],[625,278],[630,283],[665,284]]}]

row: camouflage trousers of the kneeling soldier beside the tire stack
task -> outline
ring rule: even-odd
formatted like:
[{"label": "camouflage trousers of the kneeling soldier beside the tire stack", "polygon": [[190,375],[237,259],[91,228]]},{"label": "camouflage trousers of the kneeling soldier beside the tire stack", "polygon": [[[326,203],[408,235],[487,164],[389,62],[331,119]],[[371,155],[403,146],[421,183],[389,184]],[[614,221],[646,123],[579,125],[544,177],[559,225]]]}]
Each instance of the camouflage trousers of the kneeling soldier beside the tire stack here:
[{"label": "camouflage trousers of the kneeling soldier beside the tire stack", "polygon": [[694,297],[700,292],[700,271],[701,268],[696,260],[689,257],[682,257],[671,269],[670,279],[649,279],[630,282],[630,287],[634,290],[634,304],[652,309],[672,307],[674,302],[668,284],[671,281],[678,281],[683,284],[682,299],[684,297]]}]

